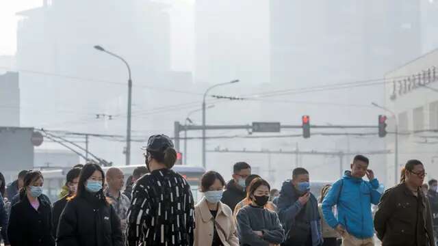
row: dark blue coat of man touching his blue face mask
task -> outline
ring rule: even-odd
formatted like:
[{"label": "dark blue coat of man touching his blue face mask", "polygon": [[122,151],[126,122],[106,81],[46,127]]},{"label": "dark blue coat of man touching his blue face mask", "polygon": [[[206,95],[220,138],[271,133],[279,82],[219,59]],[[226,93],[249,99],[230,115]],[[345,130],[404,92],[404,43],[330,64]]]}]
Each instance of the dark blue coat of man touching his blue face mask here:
[{"label": "dark blue coat of man touching his blue face mask", "polygon": [[[316,197],[310,193],[310,198],[307,204],[303,206],[298,198],[300,195],[297,193],[292,180],[286,180],[281,187],[280,196],[278,200],[279,219],[286,232],[286,240],[289,239],[296,228],[296,225],[303,222],[308,223],[309,230],[312,238],[312,245],[322,244],[322,229],[321,229],[321,217],[318,212],[318,201]],[[311,206],[307,208],[307,206]],[[306,221],[297,222],[297,215],[302,213],[302,210],[309,209],[312,217],[307,217]]]}]

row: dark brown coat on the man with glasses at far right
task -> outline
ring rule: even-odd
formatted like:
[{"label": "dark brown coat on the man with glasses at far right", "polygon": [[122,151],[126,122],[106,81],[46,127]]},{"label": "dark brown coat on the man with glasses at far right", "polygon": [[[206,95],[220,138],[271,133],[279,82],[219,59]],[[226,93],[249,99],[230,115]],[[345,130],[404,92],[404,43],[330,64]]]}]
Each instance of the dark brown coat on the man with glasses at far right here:
[{"label": "dark brown coat on the man with glasses at far right", "polygon": [[427,197],[417,197],[406,184],[388,189],[374,216],[377,237],[383,246],[435,246],[432,213]]}]

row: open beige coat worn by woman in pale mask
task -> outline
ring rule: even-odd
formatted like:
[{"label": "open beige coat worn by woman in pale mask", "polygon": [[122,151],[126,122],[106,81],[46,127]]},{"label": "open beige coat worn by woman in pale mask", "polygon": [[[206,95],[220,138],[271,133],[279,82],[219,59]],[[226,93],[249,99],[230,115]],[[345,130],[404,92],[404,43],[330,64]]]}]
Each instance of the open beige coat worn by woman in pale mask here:
[{"label": "open beige coat worn by woman in pale mask", "polygon": [[[205,197],[201,202],[194,207],[194,217],[196,228],[194,230],[194,246],[208,246],[213,243],[214,222],[210,210],[207,205]],[[235,236],[235,225],[233,220],[233,213],[231,209],[219,202],[218,214],[216,215],[216,222],[224,230],[216,226],[220,241],[224,246],[239,246],[239,239]]]}]

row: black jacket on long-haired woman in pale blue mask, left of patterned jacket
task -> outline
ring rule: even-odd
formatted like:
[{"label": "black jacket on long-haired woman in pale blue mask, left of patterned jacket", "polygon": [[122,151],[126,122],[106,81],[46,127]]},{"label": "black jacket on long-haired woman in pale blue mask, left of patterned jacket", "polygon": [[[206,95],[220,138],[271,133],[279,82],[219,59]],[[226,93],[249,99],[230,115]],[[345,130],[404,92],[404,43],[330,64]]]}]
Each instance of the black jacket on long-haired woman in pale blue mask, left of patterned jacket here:
[{"label": "black jacket on long-haired woman in pale blue mask, left of patterned jacket", "polygon": [[120,219],[110,204],[83,191],[67,202],[57,228],[57,246],[123,246]]}]

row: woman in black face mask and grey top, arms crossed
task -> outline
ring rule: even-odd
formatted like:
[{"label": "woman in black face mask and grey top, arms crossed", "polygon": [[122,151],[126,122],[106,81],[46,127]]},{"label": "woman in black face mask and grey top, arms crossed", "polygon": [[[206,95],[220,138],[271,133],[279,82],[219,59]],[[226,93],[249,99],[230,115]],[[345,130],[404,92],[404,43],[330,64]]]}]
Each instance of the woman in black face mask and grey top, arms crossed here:
[{"label": "woman in black face mask and grey top, arms crossed", "polygon": [[275,212],[265,208],[269,200],[270,185],[262,178],[250,183],[248,199],[250,205],[237,213],[237,235],[240,245],[272,246],[283,242],[285,231]]}]

